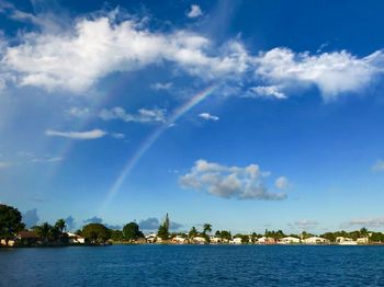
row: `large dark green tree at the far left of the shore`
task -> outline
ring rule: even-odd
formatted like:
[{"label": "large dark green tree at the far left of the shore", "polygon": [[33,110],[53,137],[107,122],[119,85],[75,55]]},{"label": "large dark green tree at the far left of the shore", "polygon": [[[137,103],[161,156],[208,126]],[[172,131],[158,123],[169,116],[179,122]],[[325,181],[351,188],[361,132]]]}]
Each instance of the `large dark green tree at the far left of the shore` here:
[{"label": "large dark green tree at the far left of the shore", "polygon": [[9,239],[23,230],[25,225],[21,220],[16,208],[0,204],[0,238]]}]

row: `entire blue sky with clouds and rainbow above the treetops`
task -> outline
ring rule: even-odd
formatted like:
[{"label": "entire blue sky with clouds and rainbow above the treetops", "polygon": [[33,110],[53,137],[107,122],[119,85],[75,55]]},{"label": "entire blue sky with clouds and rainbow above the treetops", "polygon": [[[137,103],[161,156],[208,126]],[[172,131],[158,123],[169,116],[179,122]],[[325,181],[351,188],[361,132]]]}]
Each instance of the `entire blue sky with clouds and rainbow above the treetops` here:
[{"label": "entire blue sky with clouds and rainbow above the treetops", "polygon": [[29,223],[381,230],[381,1],[0,1]]}]

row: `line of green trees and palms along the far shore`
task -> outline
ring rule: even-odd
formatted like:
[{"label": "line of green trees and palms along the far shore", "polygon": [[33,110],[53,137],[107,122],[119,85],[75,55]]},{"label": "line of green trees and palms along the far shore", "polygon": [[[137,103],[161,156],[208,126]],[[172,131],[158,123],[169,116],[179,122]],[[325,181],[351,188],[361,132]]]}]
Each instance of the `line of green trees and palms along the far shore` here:
[{"label": "line of green trees and palms along the far shore", "polygon": [[[18,237],[20,231],[26,230],[25,225],[22,222],[21,213],[8,205],[0,204],[0,239],[11,240]],[[68,244],[69,237],[67,231],[66,221],[58,219],[55,225],[43,222],[42,225],[34,226],[30,229],[38,238],[41,244]],[[88,223],[81,229],[76,231],[76,234],[84,238],[87,243],[90,244],[104,244],[105,242],[145,242],[145,236],[140,231],[139,226],[132,221],[126,223],[121,230],[110,229],[102,223]],[[189,232],[170,232],[170,220],[167,214],[165,220],[160,223],[156,236],[163,242],[171,240],[176,237],[181,237],[188,240],[193,240],[196,237],[203,238],[206,242],[212,238],[212,225],[204,223],[202,230],[199,231],[195,227],[192,227]],[[255,243],[259,238],[267,237],[275,241],[284,237],[294,237],[300,239],[307,239],[313,237],[309,232],[303,231],[300,234],[286,234],[282,230],[266,230],[264,233],[241,234],[237,233],[233,236],[228,230],[217,230],[214,237],[227,242],[234,238],[240,238],[242,243]],[[361,228],[354,231],[335,231],[325,232],[319,237],[336,242],[338,237],[350,238],[357,240],[359,238],[369,238],[370,242],[384,243],[384,233],[369,231],[366,228]]]}]

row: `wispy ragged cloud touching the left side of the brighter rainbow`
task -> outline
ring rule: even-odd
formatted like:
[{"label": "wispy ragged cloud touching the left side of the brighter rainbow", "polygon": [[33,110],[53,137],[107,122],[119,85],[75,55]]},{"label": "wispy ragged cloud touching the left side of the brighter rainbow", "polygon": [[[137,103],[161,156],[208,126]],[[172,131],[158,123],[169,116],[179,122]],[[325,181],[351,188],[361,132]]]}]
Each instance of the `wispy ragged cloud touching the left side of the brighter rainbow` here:
[{"label": "wispy ragged cloud touching the left side of the brighter rainbow", "polygon": [[103,108],[100,113],[100,117],[104,120],[123,119],[124,122],[137,122],[137,123],[165,123],[166,110],[154,108],[138,110],[137,114],[126,113],[123,107],[116,106],[111,110]]}]

